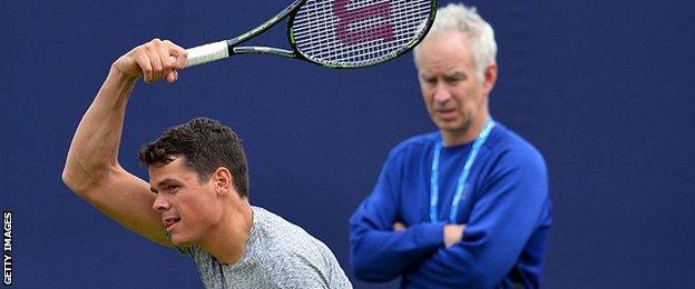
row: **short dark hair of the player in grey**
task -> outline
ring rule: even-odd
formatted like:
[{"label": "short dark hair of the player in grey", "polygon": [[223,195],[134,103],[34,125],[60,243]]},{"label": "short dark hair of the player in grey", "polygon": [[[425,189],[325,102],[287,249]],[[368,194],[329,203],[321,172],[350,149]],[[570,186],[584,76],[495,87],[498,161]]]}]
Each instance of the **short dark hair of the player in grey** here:
[{"label": "short dark hair of the player in grey", "polygon": [[146,166],[169,163],[176,156],[184,157],[184,165],[198,173],[200,183],[207,182],[217,168],[229,169],[239,197],[248,198],[248,170],[242,140],[219,121],[195,118],[167,129],[138,151],[138,159]]}]

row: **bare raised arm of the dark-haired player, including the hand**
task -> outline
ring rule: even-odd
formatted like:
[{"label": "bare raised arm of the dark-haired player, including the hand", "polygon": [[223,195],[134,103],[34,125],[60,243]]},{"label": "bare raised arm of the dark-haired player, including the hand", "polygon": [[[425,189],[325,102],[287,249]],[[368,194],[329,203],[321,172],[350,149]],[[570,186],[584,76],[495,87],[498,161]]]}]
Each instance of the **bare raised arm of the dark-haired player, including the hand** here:
[{"label": "bare raised arm of the dark-haired player, including the hand", "polygon": [[149,185],[118,163],[126,106],[137,79],[174,82],[184,68],[186,51],[155,39],[116,60],[91,106],[82,117],[62,171],[62,181],[79,197],[124,227],[165,246],[159,215],[153,210]]}]

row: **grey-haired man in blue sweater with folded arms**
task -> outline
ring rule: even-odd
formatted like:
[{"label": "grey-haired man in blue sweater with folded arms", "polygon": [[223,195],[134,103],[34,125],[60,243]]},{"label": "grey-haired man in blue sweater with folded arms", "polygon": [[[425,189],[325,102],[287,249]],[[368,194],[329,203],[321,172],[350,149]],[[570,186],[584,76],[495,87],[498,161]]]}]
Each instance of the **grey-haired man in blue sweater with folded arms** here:
[{"label": "grey-haired man in blue sweater with folded arms", "polygon": [[438,131],[389,153],[350,219],[354,275],[405,288],[539,287],[551,223],[540,152],[489,113],[497,44],[474,8],[449,4],[415,49]]}]

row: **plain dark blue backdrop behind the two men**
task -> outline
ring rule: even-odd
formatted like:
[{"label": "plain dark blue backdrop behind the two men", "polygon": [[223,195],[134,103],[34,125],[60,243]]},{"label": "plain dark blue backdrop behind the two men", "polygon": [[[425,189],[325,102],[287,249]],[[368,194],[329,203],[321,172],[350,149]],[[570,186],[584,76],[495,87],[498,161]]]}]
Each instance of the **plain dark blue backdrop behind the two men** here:
[{"label": "plain dark blue backdrop behind the two men", "polygon": [[[17,288],[202,287],[192,260],[121,229],[60,181],[74,130],[117,57],[155,37],[222,40],[286,1],[194,2],[0,4],[0,207],[14,212]],[[469,3],[500,47],[492,114],[548,161],[555,226],[544,285],[694,287],[695,2]],[[254,42],[284,46],[282,26],[273,31]],[[362,70],[237,57],[183,71],[174,86],[140,82],[123,166],[147,179],[138,147],[197,116],[243,138],[252,202],[324,240],[348,272],[348,218],[389,149],[434,129],[410,56]]]}]

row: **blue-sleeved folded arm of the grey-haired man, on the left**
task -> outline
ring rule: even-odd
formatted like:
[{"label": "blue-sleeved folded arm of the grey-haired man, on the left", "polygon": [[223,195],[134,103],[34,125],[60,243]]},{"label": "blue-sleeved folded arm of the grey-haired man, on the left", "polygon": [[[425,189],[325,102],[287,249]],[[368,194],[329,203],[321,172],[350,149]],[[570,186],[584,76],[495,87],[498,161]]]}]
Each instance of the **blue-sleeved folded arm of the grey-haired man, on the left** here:
[{"label": "blue-sleeved folded arm of the grey-haired man, on the left", "polygon": [[350,219],[353,273],[366,281],[389,281],[443,247],[444,223],[422,222],[394,230],[399,221],[398,159],[390,156],[372,193]]}]

